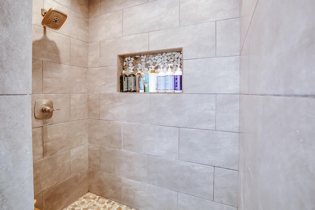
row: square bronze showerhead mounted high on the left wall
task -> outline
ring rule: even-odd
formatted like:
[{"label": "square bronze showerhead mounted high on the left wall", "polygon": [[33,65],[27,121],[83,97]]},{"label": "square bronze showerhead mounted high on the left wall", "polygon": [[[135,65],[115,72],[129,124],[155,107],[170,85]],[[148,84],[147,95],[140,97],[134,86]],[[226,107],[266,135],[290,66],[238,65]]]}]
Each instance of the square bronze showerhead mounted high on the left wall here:
[{"label": "square bronze showerhead mounted high on the left wall", "polygon": [[41,9],[41,15],[44,17],[41,25],[54,30],[59,30],[67,19],[67,14],[54,8],[50,8],[48,11]]}]

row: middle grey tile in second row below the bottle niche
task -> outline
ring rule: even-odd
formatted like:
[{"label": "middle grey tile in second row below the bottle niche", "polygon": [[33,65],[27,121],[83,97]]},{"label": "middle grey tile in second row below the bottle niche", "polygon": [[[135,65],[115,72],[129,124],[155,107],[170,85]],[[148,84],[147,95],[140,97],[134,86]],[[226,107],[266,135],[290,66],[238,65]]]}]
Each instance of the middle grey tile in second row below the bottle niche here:
[{"label": "middle grey tile in second row below the bottle niche", "polygon": [[123,149],[178,159],[179,129],[123,123]]}]

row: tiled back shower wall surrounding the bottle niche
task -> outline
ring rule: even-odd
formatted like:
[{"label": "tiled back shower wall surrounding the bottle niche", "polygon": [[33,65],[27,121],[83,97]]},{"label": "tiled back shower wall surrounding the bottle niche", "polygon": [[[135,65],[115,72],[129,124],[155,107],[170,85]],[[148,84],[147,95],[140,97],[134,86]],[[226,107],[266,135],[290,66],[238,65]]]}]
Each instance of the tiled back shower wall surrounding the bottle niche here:
[{"label": "tiled back shower wall surrounding the bottle niche", "polygon": [[[89,190],[141,210],[235,210],[239,1],[89,8]],[[181,47],[182,94],[117,93],[117,55]]]}]

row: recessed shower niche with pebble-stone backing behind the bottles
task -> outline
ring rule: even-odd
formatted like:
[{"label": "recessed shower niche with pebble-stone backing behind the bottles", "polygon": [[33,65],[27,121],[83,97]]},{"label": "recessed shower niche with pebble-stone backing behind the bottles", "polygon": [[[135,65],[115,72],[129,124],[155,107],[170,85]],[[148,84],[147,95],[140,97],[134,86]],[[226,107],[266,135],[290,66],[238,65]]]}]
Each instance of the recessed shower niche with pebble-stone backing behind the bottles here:
[{"label": "recessed shower niche with pebble-stone backing behind the bottles", "polygon": [[[137,52],[129,54],[121,54],[117,56],[117,92],[120,93],[134,93],[134,92],[121,92],[120,88],[120,76],[125,70],[125,74],[128,76],[130,68],[133,68],[133,74],[138,71],[142,73],[143,79],[146,74],[150,73],[152,67],[156,73],[160,66],[163,67],[163,71],[168,71],[168,64],[172,64],[171,71],[175,73],[178,68],[177,64],[180,64],[180,68],[183,72],[183,48],[173,48],[158,51]],[[130,67],[130,68],[129,68]],[[182,89],[183,89],[183,76],[182,76]],[[137,92],[138,93],[138,92]],[[158,92],[161,93],[161,92]]]}]

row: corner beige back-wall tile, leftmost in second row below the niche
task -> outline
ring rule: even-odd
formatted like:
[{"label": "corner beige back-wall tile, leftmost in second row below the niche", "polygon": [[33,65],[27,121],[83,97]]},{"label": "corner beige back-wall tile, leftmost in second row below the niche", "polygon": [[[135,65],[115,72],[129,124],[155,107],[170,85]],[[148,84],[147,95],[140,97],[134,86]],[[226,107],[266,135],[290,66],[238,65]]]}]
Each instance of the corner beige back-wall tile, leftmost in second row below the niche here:
[{"label": "corner beige back-wall tile, leftmost in second row below the niche", "polygon": [[122,123],[106,120],[89,120],[89,143],[122,149]]}]

